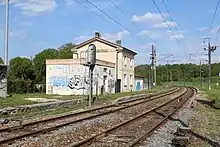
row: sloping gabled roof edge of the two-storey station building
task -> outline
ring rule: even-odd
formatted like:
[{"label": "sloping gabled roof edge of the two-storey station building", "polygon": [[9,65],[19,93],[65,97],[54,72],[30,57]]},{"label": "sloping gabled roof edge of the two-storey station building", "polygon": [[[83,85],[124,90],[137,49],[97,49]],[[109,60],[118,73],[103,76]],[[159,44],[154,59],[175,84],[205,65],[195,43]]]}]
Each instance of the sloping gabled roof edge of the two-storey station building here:
[{"label": "sloping gabled roof edge of the two-storey station building", "polygon": [[91,38],[91,39],[89,39],[89,40],[87,40],[87,41],[85,41],[85,42],[82,42],[82,43],[76,45],[75,48],[76,48],[76,49],[79,49],[80,47],[85,46],[85,45],[87,45],[87,44],[89,44],[89,43],[91,43],[91,42],[93,42],[93,41],[99,41],[99,42],[102,42],[102,43],[104,43],[104,44],[106,44],[106,45],[109,45],[109,46],[112,46],[112,47],[115,47],[115,48],[121,47],[121,48],[123,48],[123,50],[125,50],[125,51],[127,51],[127,52],[130,52],[130,53],[132,53],[132,54],[134,54],[134,55],[137,55],[137,53],[136,53],[135,51],[133,51],[133,50],[127,48],[127,47],[118,45],[118,44],[116,44],[116,43],[110,42],[110,41],[108,41],[108,40],[105,40],[105,39],[102,39],[102,38],[99,38],[99,37],[93,37],[93,38]]}]

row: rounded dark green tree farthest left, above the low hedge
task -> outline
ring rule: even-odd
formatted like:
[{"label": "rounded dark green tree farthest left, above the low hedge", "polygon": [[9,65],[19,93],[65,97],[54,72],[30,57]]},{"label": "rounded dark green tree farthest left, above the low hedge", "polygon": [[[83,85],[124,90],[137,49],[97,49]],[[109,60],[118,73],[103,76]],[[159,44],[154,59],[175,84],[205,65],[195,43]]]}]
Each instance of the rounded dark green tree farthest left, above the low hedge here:
[{"label": "rounded dark green tree farthest left, above the low hedge", "polygon": [[28,58],[15,57],[9,62],[9,79],[34,80],[32,61]]}]

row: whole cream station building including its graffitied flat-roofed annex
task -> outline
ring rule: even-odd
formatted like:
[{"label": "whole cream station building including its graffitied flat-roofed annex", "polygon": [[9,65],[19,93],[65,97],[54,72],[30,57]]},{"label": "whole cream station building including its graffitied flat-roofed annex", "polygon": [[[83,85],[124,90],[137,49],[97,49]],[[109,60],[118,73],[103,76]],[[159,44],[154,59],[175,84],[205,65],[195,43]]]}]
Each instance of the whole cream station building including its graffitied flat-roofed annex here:
[{"label": "whole cream station building including its graffitied flat-roofed annex", "polygon": [[94,69],[93,92],[127,92],[136,90],[134,80],[134,57],[136,52],[105,40],[96,32],[95,36],[78,44],[73,51],[73,59],[49,59],[46,61],[47,94],[87,94],[88,66],[87,49],[96,46],[96,66]]}]

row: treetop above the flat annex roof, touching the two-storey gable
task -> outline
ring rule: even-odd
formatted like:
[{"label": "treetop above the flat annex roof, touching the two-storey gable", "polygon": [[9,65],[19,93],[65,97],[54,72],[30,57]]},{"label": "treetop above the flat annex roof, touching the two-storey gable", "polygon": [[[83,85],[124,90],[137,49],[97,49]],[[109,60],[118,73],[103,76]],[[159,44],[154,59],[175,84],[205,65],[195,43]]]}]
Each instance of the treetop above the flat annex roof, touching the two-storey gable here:
[{"label": "treetop above the flat annex roof, touching the two-storey gable", "polygon": [[61,45],[58,50],[58,57],[59,59],[72,59],[73,58],[73,52],[71,51],[76,45],[73,43],[66,43],[64,45]]}]

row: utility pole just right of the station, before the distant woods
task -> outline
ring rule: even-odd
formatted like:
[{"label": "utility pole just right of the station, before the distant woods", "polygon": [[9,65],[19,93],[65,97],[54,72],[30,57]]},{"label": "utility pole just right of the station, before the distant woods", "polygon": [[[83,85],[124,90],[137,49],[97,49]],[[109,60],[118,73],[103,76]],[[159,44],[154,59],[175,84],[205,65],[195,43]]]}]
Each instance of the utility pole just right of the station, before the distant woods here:
[{"label": "utility pole just right of the station, before the distant woods", "polygon": [[156,79],[157,79],[157,73],[156,73],[156,46],[152,44],[152,53],[150,54],[151,57],[151,67],[152,67],[152,82],[153,86],[156,86]]}]

